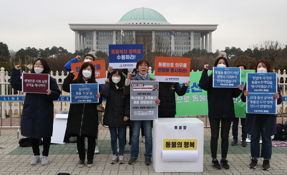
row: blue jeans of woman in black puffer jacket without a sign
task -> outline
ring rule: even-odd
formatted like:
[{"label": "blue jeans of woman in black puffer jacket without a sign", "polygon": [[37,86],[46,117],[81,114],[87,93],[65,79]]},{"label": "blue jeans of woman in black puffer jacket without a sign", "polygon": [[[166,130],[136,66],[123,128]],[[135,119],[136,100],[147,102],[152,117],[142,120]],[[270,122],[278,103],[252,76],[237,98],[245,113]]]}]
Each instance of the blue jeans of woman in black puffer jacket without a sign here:
[{"label": "blue jeans of woman in black puffer jacket without a sign", "polygon": [[109,126],[109,132],[111,134],[111,146],[113,155],[118,156],[117,153],[117,139],[119,139],[119,155],[124,155],[125,149],[125,131],[126,126]]}]

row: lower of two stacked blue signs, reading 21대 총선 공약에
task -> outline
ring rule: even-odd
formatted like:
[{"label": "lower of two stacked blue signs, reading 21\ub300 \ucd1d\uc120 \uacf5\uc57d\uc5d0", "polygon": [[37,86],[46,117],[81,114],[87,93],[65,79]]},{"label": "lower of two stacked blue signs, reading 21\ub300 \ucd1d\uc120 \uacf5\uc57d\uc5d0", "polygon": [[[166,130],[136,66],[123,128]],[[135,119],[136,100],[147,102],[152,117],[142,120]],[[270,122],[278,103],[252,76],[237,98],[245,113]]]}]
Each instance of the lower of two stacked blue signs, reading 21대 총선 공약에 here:
[{"label": "lower of two stacked blue signs, reading 21\ub300 \ucd1d\uc120 \uacf5\uc57d\uc5d0", "polygon": [[274,94],[252,93],[246,97],[246,113],[277,114]]}]

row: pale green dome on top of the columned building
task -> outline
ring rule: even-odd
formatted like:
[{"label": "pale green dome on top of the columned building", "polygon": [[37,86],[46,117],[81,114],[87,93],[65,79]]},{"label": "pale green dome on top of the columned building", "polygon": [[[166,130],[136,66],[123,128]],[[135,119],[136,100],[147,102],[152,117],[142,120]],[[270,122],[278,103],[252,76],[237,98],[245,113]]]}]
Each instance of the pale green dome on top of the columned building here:
[{"label": "pale green dome on top of the columned building", "polygon": [[163,17],[159,12],[148,8],[133,9],[122,16],[119,22],[134,20],[162,21],[164,23],[167,22],[165,17]]}]

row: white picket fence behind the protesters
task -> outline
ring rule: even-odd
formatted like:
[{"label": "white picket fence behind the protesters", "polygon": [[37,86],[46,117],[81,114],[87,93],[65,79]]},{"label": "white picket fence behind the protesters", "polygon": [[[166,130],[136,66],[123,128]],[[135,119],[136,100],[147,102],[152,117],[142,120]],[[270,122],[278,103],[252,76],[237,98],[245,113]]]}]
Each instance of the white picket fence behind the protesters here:
[{"label": "white picket fence behind the protesters", "polygon": [[[198,71],[199,70],[197,70],[197,72]],[[148,72],[152,73],[151,67],[149,67]],[[194,72],[194,71],[192,70],[191,72]],[[29,71],[29,73],[30,73],[30,71]],[[106,71],[106,74],[107,74],[107,71]],[[67,76],[67,73],[64,73],[64,71],[62,71],[62,72],[51,71],[51,77],[56,79],[61,91],[62,91],[62,84],[63,84],[63,81],[66,78],[66,76]],[[286,84],[286,78],[287,78],[286,70],[284,70],[283,72],[278,70],[278,78],[281,81],[283,80],[283,83],[279,84],[279,85],[282,89],[284,89],[281,91],[281,94],[285,95],[285,86],[287,85]],[[17,94],[14,94],[14,90],[9,85],[9,79],[10,79],[10,76],[8,75],[8,72],[7,71],[5,72],[4,68],[2,67],[1,71],[0,71],[0,83],[1,83],[0,95],[22,95],[23,93],[21,91],[17,91]],[[64,94],[64,92],[62,91],[61,95],[68,95],[68,94],[66,92]],[[18,103],[19,102],[1,102],[1,116],[3,116],[2,118],[5,118],[6,115],[10,115],[10,111],[12,112],[11,115],[19,115],[19,111],[18,111],[19,110],[19,106],[18,106],[19,104]],[[20,102],[20,103],[23,103],[23,102]],[[20,105],[20,106],[21,106],[21,110],[22,110],[22,105]],[[60,110],[69,110],[69,107],[70,107],[69,102],[54,102],[54,112],[60,111]],[[283,109],[284,109],[283,112],[286,112],[286,104],[285,103],[284,103]],[[278,114],[281,114],[282,105],[278,105],[277,111],[278,111]]]}]

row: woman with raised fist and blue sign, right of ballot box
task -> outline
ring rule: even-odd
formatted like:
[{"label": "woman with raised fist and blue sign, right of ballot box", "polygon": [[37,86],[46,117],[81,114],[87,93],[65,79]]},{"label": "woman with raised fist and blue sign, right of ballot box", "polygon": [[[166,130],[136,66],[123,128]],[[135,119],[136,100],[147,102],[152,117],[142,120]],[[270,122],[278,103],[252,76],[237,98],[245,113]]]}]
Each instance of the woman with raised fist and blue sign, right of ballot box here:
[{"label": "woman with raised fist and blue sign, right of ballot box", "polygon": [[[228,62],[225,57],[218,57],[215,60],[214,67],[228,67]],[[235,117],[233,98],[240,95],[243,90],[243,85],[239,84],[237,88],[218,88],[212,87],[212,74],[207,75],[209,65],[204,65],[199,87],[207,91],[208,99],[208,118],[211,129],[210,149],[212,156],[212,166],[215,169],[229,169],[228,161],[226,160],[228,152],[228,137],[232,118]],[[221,160],[220,164],[217,160],[217,141],[219,138],[219,128],[221,122]]]}]

